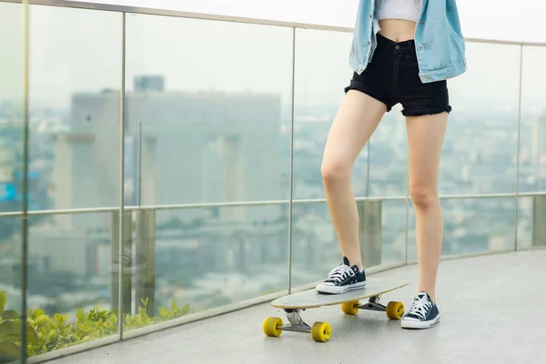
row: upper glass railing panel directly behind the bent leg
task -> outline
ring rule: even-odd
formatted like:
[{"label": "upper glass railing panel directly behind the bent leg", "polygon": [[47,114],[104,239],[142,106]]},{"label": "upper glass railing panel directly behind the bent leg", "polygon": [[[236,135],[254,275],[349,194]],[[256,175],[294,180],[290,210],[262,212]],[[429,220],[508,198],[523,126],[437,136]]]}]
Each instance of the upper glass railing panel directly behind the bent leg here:
[{"label": "upper glass railing panel directly behind the bent leg", "polygon": [[[344,88],[352,72],[347,63],[349,33],[298,29],[296,32],[294,113],[294,198],[323,198],[322,153]],[[353,173],[356,196],[366,196],[367,150]]]}]

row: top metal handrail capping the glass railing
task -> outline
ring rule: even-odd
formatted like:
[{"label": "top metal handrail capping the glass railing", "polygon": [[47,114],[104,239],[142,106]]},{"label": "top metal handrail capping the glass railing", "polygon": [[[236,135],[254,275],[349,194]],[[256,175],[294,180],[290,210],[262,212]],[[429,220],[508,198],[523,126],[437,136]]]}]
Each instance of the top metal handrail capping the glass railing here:
[{"label": "top metal handrail capping the glass railing", "polygon": [[[0,3],[21,4],[22,0],[0,0]],[[181,10],[167,10],[167,9],[158,9],[158,8],[151,8],[151,7],[140,7],[140,6],[96,4],[96,3],[65,1],[65,0],[32,0],[32,1],[29,1],[29,3],[31,3],[31,5],[59,6],[59,7],[69,7],[69,8],[87,9],[87,10],[100,10],[100,11],[126,13],[126,14],[162,15],[162,16],[189,18],[189,19],[229,22],[229,23],[269,25],[269,26],[280,26],[280,27],[312,29],[312,30],[328,30],[328,31],[343,32],[343,33],[353,32],[352,27],[346,27],[346,26],[286,22],[286,21],[279,21],[279,20],[260,19],[260,18],[232,16],[232,15],[192,13],[192,12],[185,12]],[[498,44],[498,45],[521,45],[521,46],[546,46],[545,42],[519,42],[519,41],[483,39],[483,38],[465,38],[465,40],[471,43],[490,43],[490,44]]]}]

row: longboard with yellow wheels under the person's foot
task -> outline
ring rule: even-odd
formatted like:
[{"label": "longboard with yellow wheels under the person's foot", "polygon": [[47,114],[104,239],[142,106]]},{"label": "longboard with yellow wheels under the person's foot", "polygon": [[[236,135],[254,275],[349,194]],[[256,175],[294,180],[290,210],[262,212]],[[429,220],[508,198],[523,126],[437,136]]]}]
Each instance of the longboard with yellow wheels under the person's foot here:
[{"label": "longboard with yellow wheels under the person's foot", "polygon": [[[328,322],[315,322],[309,326],[301,319],[299,311],[307,308],[341,305],[341,310],[347,315],[356,315],[359,309],[386,312],[389,319],[401,319],[404,315],[404,304],[391,301],[387,306],[379,303],[382,294],[408,285],[408,282],[387,278],[368,278],[366,287],[350,290],[340,294],[319,293],[313,289],[277,298],[271,302],[276,308],[283,308],[289,324],[284,325],[280,318],[266,318],[262,329],[268,337],[279,337],[282,331],[294,331],[311,334],[317,342],[326,342],[331,337],[331,327]],[[360,304],[360,300],[368,301]]]}]

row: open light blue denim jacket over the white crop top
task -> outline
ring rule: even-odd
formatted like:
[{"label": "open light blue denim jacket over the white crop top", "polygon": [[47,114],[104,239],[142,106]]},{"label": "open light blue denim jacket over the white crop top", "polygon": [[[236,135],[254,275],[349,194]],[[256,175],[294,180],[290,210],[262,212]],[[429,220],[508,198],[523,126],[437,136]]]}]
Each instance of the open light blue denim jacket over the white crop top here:
[{"label": "open light blue denim jacket over the white crop top", "polygon": [[[375,0],[360,0],[349,66],[361,74],[377,46]],[[422,0],[415,47],[423,83],[459,76],[467,69],[464,38],[455,0]]]}]

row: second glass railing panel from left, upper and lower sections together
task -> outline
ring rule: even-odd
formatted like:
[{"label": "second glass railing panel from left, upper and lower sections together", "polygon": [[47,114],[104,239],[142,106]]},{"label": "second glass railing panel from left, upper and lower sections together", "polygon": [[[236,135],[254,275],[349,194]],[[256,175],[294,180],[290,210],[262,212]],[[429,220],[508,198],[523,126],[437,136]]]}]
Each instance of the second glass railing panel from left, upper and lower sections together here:
[{"label": "second glass railing panel from left, upper and lower sections together", "polygon": [[[113,12],[30,8],[31,211],[119,203],[121,19]],[[98,24],[91,32],[86,26]],[[12,176],[20,186],[23,172]],[[41,214],[27,221],[29,325],[38,338],[29,340],[29,356],[115,335],[110,215]]]}]

